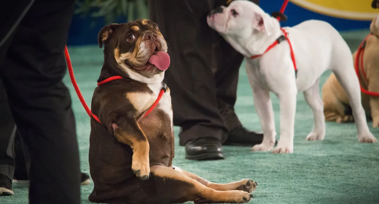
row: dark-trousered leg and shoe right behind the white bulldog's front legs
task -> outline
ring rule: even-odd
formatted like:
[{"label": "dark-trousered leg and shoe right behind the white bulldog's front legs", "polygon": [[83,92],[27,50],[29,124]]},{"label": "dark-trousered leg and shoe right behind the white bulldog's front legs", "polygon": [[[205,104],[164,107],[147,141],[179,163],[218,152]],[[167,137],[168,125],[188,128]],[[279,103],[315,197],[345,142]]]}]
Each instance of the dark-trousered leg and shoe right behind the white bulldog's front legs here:
[{"label": "dark-trousered leg and shoe right behind the white bulldog's front legs", "polygon": [[[252,0],[259,4],[259,0]],[[224,5],[224,1],[218,1],[219,5]],[[237,96],[238,73],[243,55],[238,53],[224,38],[219,36],[218,45],[214,48],[216,53],[215,80],[217,87],[218,108],[229,130],[228,138],[224,145],[255,145],[260,144],[263,134],[249,131],[243,127],[234,111]]]}]

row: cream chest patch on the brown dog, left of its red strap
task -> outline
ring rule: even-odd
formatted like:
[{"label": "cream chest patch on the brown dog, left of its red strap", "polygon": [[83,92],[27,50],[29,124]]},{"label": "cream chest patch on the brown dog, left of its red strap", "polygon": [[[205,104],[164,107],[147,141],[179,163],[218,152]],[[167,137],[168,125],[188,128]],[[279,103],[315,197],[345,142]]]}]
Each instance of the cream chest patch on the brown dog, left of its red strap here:
[{"label": "cream chest patch on the brown dog, left of its red strap", "polygon": [[130,92],[126,94],[126,97],[138,113],[146,111],[155,102],[155,97],[149,93]]}]

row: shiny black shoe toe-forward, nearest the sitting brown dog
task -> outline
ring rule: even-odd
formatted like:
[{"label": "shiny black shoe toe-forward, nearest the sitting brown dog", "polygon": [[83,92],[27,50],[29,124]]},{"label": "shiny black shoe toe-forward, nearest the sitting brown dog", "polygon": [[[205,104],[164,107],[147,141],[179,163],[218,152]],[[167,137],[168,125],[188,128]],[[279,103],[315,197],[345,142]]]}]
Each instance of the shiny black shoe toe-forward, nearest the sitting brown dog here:
[{"label": "shiny black shoe toe-forward, nearest the sitting brown dog", "polygon": [[186,159],[216,160],[225,159],[222,154],[221,141],[217,138],[198,138],[185,144]]}]

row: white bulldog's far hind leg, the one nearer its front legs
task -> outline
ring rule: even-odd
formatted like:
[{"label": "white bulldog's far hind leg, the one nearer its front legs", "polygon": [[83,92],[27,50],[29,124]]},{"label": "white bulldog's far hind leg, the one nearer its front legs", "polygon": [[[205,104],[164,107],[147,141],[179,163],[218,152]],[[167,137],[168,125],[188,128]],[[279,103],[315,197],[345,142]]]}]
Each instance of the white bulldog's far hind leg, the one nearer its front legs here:
[{"label": "white bulldog's far hind leg, the one nearer its front legs", "polygon": [[323,140],[325,137],[324,106],[319,94],[319,79],[308,90],[304,91],[305,102],[312,108],[314,125],[307,140]]}]

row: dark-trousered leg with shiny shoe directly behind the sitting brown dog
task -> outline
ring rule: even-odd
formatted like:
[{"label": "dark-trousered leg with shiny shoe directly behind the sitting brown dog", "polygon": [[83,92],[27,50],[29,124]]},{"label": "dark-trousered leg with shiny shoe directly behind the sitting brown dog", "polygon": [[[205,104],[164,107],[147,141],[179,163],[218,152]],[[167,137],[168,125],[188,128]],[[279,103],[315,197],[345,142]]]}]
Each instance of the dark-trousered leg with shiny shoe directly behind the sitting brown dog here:
[{"label": "dark-trousered leg with shiny shoe directly behind the sitting brown dog", "polygon": [[216,100],[214,53],[218,33],[206,21],[213,0],[150,0],[150,18],[168,43],[170,67],[164,82],[172,93],[174,125],[188,159],[222,159],[227,128]]}]

